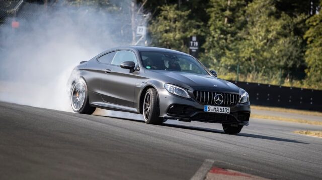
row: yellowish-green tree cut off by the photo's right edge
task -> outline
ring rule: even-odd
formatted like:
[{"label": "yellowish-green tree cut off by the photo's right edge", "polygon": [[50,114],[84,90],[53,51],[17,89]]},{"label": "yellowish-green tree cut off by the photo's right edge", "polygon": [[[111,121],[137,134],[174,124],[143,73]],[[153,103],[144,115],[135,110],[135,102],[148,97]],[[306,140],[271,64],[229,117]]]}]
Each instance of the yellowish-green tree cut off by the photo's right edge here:
[{"label": "yellowish-green tree cut off by the photo's right edge", "polygon": [[[322,2],[320,3],[322,7]],[[305,62],[307,63],[306,83],[313,88],[322,88],[322,14],[318,13],[307,19],[310,27],[304,38],[307,40]]]}]

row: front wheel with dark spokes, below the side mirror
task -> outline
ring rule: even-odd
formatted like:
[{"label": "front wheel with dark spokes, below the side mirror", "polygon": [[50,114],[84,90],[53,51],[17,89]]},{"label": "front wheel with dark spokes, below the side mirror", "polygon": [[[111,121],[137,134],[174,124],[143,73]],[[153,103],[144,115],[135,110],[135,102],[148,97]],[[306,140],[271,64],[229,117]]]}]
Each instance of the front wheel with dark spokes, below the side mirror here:
[{"label": "front wheel with dark spokes, below the side mirror", "polygon": [[143,100],[143,118],[147,124],[162,124],[163,118],[159,117],[159,99],[155,89],[150,88],[146,91]]}]

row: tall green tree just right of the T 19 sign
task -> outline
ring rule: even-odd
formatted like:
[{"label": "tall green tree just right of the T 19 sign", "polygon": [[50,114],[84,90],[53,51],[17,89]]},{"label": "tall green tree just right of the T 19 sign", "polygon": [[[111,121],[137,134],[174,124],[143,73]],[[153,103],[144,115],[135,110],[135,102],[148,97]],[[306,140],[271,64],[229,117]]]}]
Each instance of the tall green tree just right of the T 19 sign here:
[{"label": "tall green tree just right of the T 19 sign", "polygon": [[211,0],[207,13],[210,16],[206,42],[203,46],[205,54],[201,59],[210,67],[236,64],[238,49],[237,34],[243,28],[245,21],[243,7],[245,1]]}]

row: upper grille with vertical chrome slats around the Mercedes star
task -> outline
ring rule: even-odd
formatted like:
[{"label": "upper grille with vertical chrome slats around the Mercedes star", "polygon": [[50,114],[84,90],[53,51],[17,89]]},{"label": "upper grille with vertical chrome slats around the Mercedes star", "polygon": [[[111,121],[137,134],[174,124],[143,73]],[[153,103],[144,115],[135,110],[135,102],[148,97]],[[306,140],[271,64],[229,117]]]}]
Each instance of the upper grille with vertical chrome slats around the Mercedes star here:
[{"label": "upper grille with vertical chrome slats around the Mercedes star", "polygon": [[[223,97],[222,104],[218,105],[214,102],[214,97],[217,94],[221,94]],[[215,106],[234,106],[239,101],[239,95],[221,93],[221,92],[209,92],[209,91],[194,91],[193,95],[195,99],[203,104],[215,105]]]}]

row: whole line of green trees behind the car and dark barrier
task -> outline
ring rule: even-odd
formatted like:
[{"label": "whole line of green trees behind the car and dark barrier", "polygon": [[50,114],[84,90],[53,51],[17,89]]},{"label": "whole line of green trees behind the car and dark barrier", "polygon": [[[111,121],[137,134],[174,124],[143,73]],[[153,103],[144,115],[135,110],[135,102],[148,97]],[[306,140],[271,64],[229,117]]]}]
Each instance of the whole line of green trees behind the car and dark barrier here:
[{"label": "whole line of green trees behind the car and dark barrier", "polygon": [[[180,5],[180,7],[179,7]],[[322,89],[321,1],[147,1],[151,44],[188,52],[219,77]],[[239,66],[239,67],[238,67]]]}]

